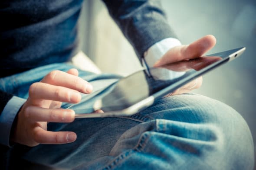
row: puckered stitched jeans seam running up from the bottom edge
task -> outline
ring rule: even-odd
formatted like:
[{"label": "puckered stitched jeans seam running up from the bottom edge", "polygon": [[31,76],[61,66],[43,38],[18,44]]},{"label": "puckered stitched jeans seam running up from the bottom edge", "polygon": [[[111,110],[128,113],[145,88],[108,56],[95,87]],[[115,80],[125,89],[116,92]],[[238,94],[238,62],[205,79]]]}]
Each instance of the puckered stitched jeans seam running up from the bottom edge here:
[{"label": "puckered stitched jeans seam running up from the bottom edge", "polygon": [[118,155],[118,157],[116,157],[114,160],[111,161],[110,164],[108,164],[106,167],[104,167],[102,170],[113,170],[115,169],[115,167],[118,165],[118,163],[121,160],[124,160],[126,157],[131,156],[131,154],[134,154],[136,152],[141,152],[145,145],[148,143],[148,138],[150,137],[150,135],[148,135],[147,132],[144,132],[143,135],[141,135],[138,144],[135,146],[135,148],[125,152],[125,153],[121,153]]}]

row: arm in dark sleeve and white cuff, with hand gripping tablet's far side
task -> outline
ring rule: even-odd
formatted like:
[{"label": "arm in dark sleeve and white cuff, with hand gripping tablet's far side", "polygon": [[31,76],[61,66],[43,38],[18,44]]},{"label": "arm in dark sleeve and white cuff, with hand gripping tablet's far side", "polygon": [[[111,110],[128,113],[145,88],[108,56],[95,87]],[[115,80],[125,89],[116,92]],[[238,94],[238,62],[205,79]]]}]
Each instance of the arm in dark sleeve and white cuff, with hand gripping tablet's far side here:
[{"label": "arm in dark sleeve and white cuff, with hand gripping tablet's far side", "polygon": [[[213,36],[207,35],[190,45],[181,45],[167,23],[159,0],[103,1],[138,57],[144,57],[149,67],[200,57],[216,43]],[[202,80],[199,77],[172,95],[197,89]]]}]

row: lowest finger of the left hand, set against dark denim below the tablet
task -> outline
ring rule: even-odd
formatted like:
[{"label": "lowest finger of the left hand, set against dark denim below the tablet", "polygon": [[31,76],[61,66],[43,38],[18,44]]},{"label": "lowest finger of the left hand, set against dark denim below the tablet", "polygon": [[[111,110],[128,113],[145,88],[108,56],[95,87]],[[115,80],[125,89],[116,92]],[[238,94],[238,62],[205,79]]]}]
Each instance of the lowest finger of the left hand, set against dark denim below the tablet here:
[{"label": "lowest finger of the left hand, set against dark denim below the tablet", "polygon": [[76,140],[74,132],[50,132],[41,127],[34,128],[33,138],[40,144],[66,144]]}]

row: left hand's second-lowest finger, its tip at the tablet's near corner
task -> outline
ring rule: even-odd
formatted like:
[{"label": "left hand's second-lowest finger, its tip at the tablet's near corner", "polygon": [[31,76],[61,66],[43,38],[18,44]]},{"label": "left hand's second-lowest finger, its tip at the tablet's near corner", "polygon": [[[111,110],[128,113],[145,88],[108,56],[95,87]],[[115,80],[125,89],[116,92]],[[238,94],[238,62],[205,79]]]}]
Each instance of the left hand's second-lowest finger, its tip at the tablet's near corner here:
[{"label": "left hand's second-lowest finger, its tip at the tablet's near corner", "polygon": [[25,116],[32,122],[72,122],[75,112],[71,109],[46,109],[30,106],[25,109]]}]

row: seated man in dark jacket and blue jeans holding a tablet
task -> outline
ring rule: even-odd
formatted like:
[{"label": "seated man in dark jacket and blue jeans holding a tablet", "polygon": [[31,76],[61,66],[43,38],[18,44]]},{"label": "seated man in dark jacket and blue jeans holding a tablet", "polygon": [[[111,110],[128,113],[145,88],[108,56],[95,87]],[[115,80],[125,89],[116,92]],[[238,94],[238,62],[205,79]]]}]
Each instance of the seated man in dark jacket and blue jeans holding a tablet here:
[{"label": "seated man in dark jacket and blue jeans holding a tablet", "polygon": [[[181,45],[156,0],[104,2],[150,66],[201,56],[216,43],[207,35]],[[253,141],[243,118],[216,100],[183,94],[200,87],[201,78],[131,117],[74,120],[68,103],[82,103],[73,109],[90,106],[93,97],[81,93],[103,92],[119,78],[67,63],[77,52],[82,0],[0,4],[0,142],[13,147],[12,154],[69,169],[253,168]]]}]

